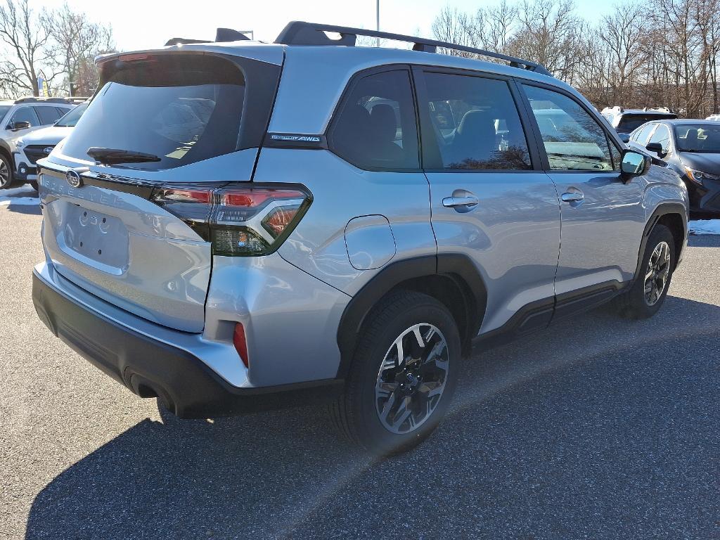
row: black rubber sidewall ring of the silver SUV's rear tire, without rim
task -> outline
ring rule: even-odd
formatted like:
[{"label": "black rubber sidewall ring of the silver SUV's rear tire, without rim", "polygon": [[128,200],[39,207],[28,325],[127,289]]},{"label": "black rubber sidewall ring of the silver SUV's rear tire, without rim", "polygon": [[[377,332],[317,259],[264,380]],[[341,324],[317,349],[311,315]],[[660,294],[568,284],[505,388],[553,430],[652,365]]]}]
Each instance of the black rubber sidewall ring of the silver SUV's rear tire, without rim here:
[{"label": "black rubber sidewall ring of the silver SUV's rear tire, without rim", "polygon": [[[425,297],[425,295],[422,295]],[[377,454],[393,454],[415,446],[426,438],[438,426],[446,413],[454,393],[460,369],[460,338],[454,319],[446,308],[431,297],[422,304],[415,305],[405,312],[398,312],[392,322],[377,333],[367,333],[364,339],[372,340],[364,358],[356,358],[356,384],[354,407],[359,411],[358,426],[361,440],[366,441],[369,450]],[[391,307],[392,309],[392,307]],[[440,402],[432,415],[422,426],[410,433],[392,433],[388,431],[377,415],[375,408],[375,385],[380,365],[395,339],[402,332],[418,323],[430,323],[436,326],[445,337],[448,347],[448,374],[446,386]],[[362,349],[362,348],[361,348]]]}]

